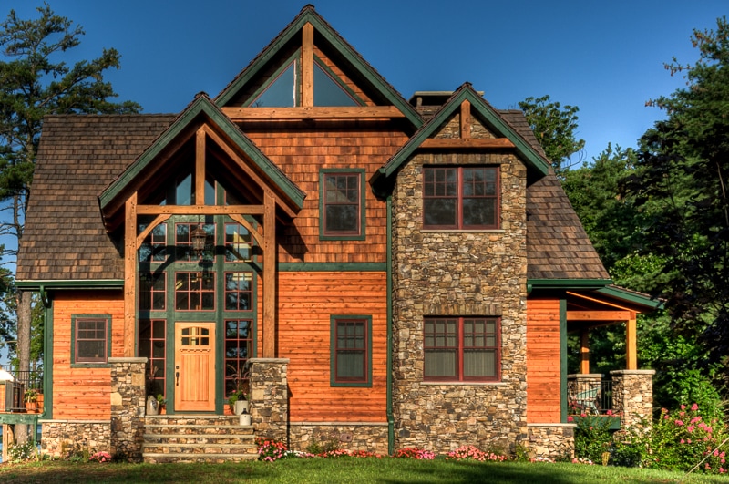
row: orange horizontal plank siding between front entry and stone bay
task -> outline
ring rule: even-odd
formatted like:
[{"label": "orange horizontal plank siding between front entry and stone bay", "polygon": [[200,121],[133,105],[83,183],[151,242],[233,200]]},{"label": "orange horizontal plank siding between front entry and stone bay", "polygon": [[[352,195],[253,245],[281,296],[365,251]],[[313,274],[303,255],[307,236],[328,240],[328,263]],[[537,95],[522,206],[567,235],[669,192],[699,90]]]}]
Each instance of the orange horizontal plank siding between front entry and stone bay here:
[{"label": "orange horizontal plank siding between front entry and stone bay", "polygon": [[[290,358],[290,419],[385,422],[386,274],[280,273],[279,355]],[[330,316],[372,316],[372,387],[331,386]]]}]

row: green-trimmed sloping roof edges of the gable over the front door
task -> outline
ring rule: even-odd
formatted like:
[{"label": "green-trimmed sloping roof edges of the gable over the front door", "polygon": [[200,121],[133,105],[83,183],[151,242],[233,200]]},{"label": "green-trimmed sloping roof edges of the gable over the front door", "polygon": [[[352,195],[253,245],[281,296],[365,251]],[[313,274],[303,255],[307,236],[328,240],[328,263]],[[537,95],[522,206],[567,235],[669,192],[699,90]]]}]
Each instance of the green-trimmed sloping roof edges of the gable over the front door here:
[{"label": "green-trimmed sloping roof edges of the gable over the front door", "polygon": [[[200,93],[190,106],[172,122],[158,139],[146,149],[127,170],[114,180],[99,196],[101,211],[108,221],[115,211],[124,204],[125,195],[139,187],[149,177],[149,172],[159,170],[155,162],[167,149],[180,146],[180,139],[190,137],[190,129],[194,129],[201,121],[210,123],[223,137],[219,141],[228,142],[238,149],[245,160],[256,170],[261,179],[272,187],[279,198],[279,203],[289,213],[299,211],[303,207],[305,194],[292,180],[289,180],[276,165],[269,160],[251,139],[246,137],[229,118],[223,115],[204,93]],[[144,176],[142,174],[145,174]]]}]

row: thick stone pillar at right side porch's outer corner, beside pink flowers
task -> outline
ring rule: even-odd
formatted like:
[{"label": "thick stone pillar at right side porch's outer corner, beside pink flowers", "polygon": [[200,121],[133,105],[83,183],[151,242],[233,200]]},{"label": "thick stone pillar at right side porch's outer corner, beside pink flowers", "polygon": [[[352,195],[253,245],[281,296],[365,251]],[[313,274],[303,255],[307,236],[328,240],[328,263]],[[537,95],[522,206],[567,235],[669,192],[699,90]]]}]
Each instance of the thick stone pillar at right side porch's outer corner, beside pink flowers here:
[{"label": "thick stone pillar at right side porch's outer corner, beside pink flowers", "polygon": [[650,424],[653,411],[653,375],[655,370],[614,370],[612,409],[620,412],[622,427]]}]

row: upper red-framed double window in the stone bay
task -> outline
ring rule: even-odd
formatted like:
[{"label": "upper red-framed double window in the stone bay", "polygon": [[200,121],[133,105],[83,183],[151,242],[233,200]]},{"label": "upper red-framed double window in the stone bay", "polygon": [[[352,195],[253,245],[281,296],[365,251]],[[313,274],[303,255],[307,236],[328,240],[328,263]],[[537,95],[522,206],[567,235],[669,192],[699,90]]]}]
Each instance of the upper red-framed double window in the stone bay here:
[{"label": "upper red-framed double window in the stone bay", "polygon": [[498,167],[424,167],[423,227],[498,229]]}]

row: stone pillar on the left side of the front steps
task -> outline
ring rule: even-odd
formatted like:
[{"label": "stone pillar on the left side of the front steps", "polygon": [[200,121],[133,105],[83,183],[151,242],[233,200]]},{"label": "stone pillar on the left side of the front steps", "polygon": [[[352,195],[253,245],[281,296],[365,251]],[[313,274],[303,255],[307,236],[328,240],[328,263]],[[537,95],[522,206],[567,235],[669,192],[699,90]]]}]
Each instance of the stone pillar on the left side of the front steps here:
[{"label": "stone pillar on the left side of the front steps", "polygon": [[147,358],[109,358],[111,365],[111,454],[142,459]]}]

